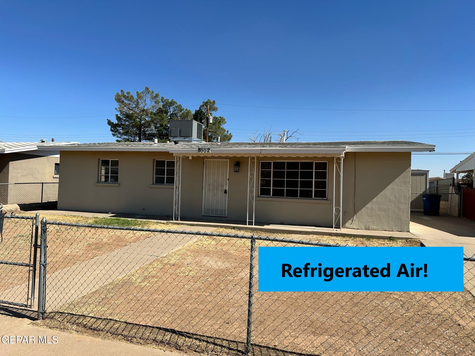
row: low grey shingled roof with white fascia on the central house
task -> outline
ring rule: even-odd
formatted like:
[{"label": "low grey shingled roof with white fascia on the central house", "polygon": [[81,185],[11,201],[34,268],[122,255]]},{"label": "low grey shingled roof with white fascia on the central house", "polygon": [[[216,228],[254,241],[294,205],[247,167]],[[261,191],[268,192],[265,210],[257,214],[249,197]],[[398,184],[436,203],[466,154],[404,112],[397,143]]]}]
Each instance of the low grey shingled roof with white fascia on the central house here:
[{"label": "low grey shingled roof with white fascia on the central house", "polygon": [[337,142],[183,142],[178,144],[153,143],[153,142],[99,142],[99,143],[76,143],[63,147],[55,147],[59,150],[118,150],[118,151],[169,151],[198,152],[198,149],[210,149],[215,153],[224,152],[247,152],[259,153],[260,151],[298,151],[298,152],[410,152],[410,151],[433,151],[435,145],[413,141],[337,141]]}]

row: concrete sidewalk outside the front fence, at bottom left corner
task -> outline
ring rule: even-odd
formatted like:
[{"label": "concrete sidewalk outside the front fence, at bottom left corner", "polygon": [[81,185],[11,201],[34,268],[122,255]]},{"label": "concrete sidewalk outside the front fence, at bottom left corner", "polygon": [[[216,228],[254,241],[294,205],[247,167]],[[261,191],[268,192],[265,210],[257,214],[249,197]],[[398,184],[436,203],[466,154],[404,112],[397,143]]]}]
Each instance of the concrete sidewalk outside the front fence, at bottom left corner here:
[{"label": "concrete sidewalk outside the front fence, at bottom left corner", "polygon": [[[34,343],[6,343],[8,337],[32,337]],[[44,340],[48,337],[48,344],[39,344],[38,337]],[[52,344],[53,336],[57,343]],[[80,334],[69,334],[59,330],[51,330],[35,326],[31,319],[16,318],[5,315],[0,309],[0,355],[2,356],[184,356],[184,352],[167,351],[157,348],[133,345],[122,341],[103,340]]]}]

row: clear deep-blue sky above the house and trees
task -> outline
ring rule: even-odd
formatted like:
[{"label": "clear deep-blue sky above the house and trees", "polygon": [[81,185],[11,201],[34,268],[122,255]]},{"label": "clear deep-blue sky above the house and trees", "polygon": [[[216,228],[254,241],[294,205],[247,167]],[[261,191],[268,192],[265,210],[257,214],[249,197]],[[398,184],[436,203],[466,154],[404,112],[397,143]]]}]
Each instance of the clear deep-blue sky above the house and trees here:
[{"label": "clear deep-blue sky above the house and trees", "polygon": [[[224,104],[475,110],[474,4],[4,2],[0,140],[114,141],[114,94],[147,85],[184,106],[216,100],[233,141],[272,126],[318,131],[301,141],[405,139],[473,152],[474,111]],[[108,116],[65,118],[95,115]],[[413,156],[412,167],[440,176],[465,157]]]}]

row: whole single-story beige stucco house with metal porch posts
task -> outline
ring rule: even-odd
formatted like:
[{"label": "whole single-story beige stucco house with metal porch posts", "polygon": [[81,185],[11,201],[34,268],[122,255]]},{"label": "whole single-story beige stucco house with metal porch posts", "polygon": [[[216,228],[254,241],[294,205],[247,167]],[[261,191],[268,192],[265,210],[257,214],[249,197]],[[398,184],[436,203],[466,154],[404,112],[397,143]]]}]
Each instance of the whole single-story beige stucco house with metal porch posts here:
[{"label": "whole single-story beige stucco house with metal porch posts", "polygon": [[411,141],[56,147],[58,208],[409,231]]}]

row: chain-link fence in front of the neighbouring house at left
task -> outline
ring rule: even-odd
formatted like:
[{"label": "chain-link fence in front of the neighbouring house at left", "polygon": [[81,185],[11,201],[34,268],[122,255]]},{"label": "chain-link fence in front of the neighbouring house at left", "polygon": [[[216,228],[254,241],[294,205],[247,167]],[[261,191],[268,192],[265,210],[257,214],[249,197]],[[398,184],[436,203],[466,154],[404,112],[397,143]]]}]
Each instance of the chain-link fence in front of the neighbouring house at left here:
[{"label": "chain-link fence in front of the neighbouring house at left", "polygon": [[0,203],[28,204],[58,200],[58,182],[0,183]]}]

